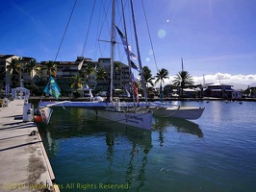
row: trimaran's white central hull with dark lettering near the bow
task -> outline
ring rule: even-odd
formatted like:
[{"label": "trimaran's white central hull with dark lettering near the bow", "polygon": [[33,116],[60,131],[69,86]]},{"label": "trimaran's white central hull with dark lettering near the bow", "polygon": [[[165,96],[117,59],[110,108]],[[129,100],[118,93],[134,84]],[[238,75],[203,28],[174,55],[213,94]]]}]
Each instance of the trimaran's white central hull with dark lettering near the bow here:
[{"label": "trimaran's white central hull with dark lettering near the bow", "polygon": [[135,113],[127,111],[90,109],[90,113],[110,121],[118,122],[127,126],[141,128],[143,130],[150,131],[152,127],[152,112]]}]

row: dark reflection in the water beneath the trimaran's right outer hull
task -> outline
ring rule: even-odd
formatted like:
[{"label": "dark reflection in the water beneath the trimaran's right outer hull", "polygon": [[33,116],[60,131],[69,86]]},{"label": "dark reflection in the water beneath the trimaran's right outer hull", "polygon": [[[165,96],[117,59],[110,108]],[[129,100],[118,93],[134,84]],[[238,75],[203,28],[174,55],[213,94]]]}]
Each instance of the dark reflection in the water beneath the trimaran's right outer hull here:
[{"label": "dark reflection in the water beneath the trimaran's right outer hull", "polygon": [[177,132],[191,133],[197,135],[198,137],[203,137],[203,132],[199,128],[199,125],[192,121],[171,117],[164,118],[154,116],[153,129],[163,130],[169,126],[176,128]]}]

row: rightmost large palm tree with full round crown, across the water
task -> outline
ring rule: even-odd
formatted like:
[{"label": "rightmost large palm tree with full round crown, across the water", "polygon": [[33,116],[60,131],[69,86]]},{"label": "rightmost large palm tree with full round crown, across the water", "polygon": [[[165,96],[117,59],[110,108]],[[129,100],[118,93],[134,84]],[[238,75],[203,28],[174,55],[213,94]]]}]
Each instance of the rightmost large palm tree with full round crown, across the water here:
[{"label": "rightmost large palm tree with full round crown, across the water", "polygon": [[173,80],[174,86],[180,86],[181,87],[181,95],[183,95],[183,88],[186,85],[192,85],[192,76],[188,71],[180,71],[176,76],[174,77],[175,80]]}]

